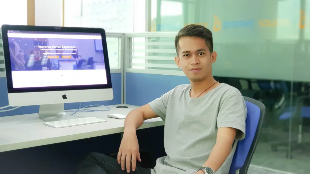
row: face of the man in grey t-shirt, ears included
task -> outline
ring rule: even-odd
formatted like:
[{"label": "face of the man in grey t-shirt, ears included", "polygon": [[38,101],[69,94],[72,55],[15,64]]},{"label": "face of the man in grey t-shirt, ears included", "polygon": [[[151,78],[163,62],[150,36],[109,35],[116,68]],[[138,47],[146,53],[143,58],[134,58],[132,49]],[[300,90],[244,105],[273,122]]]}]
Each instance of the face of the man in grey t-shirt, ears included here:
[{"label": "face of the man in grey t-shirt, ears included", "polygon": [[204,39],[200,37],[181,37],[179,39],[179,56],[175,63],[181,67],[189,80],[199,82],[212,74],[216,52],[210,53]]}]

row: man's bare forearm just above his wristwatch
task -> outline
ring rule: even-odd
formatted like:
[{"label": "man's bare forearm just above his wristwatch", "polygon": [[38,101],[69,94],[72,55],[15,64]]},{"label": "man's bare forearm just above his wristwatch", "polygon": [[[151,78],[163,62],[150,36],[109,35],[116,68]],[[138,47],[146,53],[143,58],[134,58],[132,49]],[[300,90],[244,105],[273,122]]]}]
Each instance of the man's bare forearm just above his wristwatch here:
[{"label": "man's bare forearm just above his wristwatch", "polygon": [[223,143],[215,144],[208,160],[203,166],[210,167],[214,170],[214,172],[216,172],[219,169],[219,167],[222,166],[222,164],[227,159],[231,151],[232,146],[227,146],[227,144]]}]

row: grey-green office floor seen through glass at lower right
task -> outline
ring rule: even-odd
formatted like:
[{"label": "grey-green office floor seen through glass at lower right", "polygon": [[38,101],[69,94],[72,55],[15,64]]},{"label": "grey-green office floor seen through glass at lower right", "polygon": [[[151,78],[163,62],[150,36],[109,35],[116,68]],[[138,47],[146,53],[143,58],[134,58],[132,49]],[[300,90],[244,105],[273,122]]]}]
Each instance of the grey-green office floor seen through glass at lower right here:
[{"label": "grey-green office floor seen through glass at lower right", "polygon": [[[264,130],[269,134],[280,137],[277,139],[288,140],[288,133],[276,130]],[[292,139],[296,136],[292,135]],[[303,134],[303,141],[310,142],[310,133]],[[286,147],[279,147],[273,152],[269,142],[259,142],[253,155],[249,174],[272,173],[272,174],[307,174],[309,173],[310,147],[309,150],[296,150],[292,152],[292,159],[286,158]]]}]

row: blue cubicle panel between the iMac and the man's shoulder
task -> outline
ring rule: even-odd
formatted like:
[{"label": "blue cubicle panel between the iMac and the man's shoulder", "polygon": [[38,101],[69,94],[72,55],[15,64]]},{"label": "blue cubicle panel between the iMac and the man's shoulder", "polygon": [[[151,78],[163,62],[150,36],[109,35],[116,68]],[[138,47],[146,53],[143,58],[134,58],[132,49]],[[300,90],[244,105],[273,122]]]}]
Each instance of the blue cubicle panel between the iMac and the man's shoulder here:
[{"label": "blue cubicle panel between the iMac and the man's shoulder", "polygon": [[188,84],[186,76],[126,73],[126,104],[142,106],[177,85]]}]

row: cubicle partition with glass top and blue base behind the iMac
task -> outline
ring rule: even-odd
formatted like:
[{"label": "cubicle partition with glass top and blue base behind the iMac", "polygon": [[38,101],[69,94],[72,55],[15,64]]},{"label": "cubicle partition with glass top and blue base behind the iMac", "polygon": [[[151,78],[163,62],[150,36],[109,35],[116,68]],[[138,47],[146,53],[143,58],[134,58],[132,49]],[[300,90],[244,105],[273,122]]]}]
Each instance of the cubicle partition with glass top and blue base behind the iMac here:
[{"label": "cubicle partition with glass top and blue base behind the iMac", "polygon": [[[1,35],[0,35],[1,36]],[[113,87],[114,98],[111,101],[99,101],[99,102],[83,102],[82,107],[88,105],[115,105],[121,104],[123,101],[123,58],[124,58],[124,34],[122,33],[106,33],[107,36],[107,45],[108,45],[108,54],[109,54],[109,63],[111,68],[111,79]],[[1,39],[1,38],[0,38]],[[2,43],[2,41],[0,40]],[[95,49],[95,48],[93,48]],[[25,53],[27,54],[27,53]],[[3,57],[3,48],[2,44],[0,45],[0,107],[7,106],[7,84],[5,78],[5,72],[1,71],[1,68],[4,70],[4,57]],[[24,98],[22,99],[24,100]],[[77,109],[79,103],[67,103],[65,104],[65,109]],[[11,116],[11,115],[23,115],[23,114],[32,114],[38,113],[39,106],[25,106],[15,109],[13,111],[0,112],[1,116]]]}]

